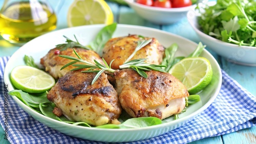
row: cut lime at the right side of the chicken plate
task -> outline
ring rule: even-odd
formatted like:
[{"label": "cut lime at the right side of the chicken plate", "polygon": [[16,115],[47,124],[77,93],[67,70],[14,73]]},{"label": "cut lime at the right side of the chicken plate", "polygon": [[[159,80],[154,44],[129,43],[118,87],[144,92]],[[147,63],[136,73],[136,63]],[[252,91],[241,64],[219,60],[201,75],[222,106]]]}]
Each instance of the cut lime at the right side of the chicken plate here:
[{"label": "cut lime at the right side of the chicken plate", "polygon": [[169,73],[179,79],[190,94],[203,90],[212,79],[210,62],[203,57],[184,58]]}]

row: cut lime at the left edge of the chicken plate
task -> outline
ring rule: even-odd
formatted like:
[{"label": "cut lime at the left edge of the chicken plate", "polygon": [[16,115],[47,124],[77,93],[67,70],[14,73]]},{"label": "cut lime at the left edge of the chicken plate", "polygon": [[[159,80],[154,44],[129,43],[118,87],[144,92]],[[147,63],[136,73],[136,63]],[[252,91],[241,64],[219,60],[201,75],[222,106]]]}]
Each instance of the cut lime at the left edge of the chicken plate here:
[{"label": "cut lime at the left edge of the chicken plate", "polygon": [[29,93],[45,92],[55,84],[51,75],[27,65],[14,67],[10,78],[14,87]]}]

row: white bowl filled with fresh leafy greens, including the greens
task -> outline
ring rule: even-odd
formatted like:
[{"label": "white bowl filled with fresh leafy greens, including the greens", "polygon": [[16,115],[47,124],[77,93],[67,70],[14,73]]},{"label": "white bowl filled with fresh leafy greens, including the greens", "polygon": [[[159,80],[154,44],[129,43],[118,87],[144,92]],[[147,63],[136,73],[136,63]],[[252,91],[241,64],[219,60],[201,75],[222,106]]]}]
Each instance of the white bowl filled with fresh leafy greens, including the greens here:
[{"label": "white bowl filled with fresh leafy greens, including the greens", "polygon": [[217,0],[187,13],[207,47],[229,62],[256,66],[256,2]]}]

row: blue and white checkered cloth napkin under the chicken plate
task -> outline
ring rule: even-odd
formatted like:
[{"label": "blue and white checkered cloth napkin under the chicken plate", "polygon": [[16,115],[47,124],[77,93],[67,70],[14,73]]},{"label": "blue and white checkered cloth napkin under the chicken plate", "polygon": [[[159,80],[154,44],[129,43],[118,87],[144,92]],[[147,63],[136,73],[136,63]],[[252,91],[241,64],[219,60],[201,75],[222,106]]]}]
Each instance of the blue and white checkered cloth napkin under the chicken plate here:
[{"label": "blue and white checkered cloth napkin under the chicken plate", "polygon": [[[1,104],[4,103],[4,67],[8,57],[0,58]],[[185,125],[161,136],[130,143],[187,143],[256,125],[256,98],[222,71],[223,81],[216,100]],[[8,131],[11,143],[103,143],[83,140],[57,132],[29,116],[8,98]],[[0,109],[4,113],[4,109]],[[4,125],[4,116],[1,116]]]}]

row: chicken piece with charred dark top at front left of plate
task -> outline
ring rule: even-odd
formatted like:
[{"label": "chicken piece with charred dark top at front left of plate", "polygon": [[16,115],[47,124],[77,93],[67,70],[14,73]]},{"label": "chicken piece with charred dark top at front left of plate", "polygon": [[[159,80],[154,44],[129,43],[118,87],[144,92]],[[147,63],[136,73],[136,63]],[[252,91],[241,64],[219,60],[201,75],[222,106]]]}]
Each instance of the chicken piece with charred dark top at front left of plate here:
[{"label": "chicken piece with charred dark top at front left of plate", "polygon": [[[70,71],[51,88],[47,98],[73,121],[93,126],[119,124],[121,107],[117,92],[104,73],[91,85],[95,75]],[[56,114],[59,114],[58,109],[55,109]]]}]

